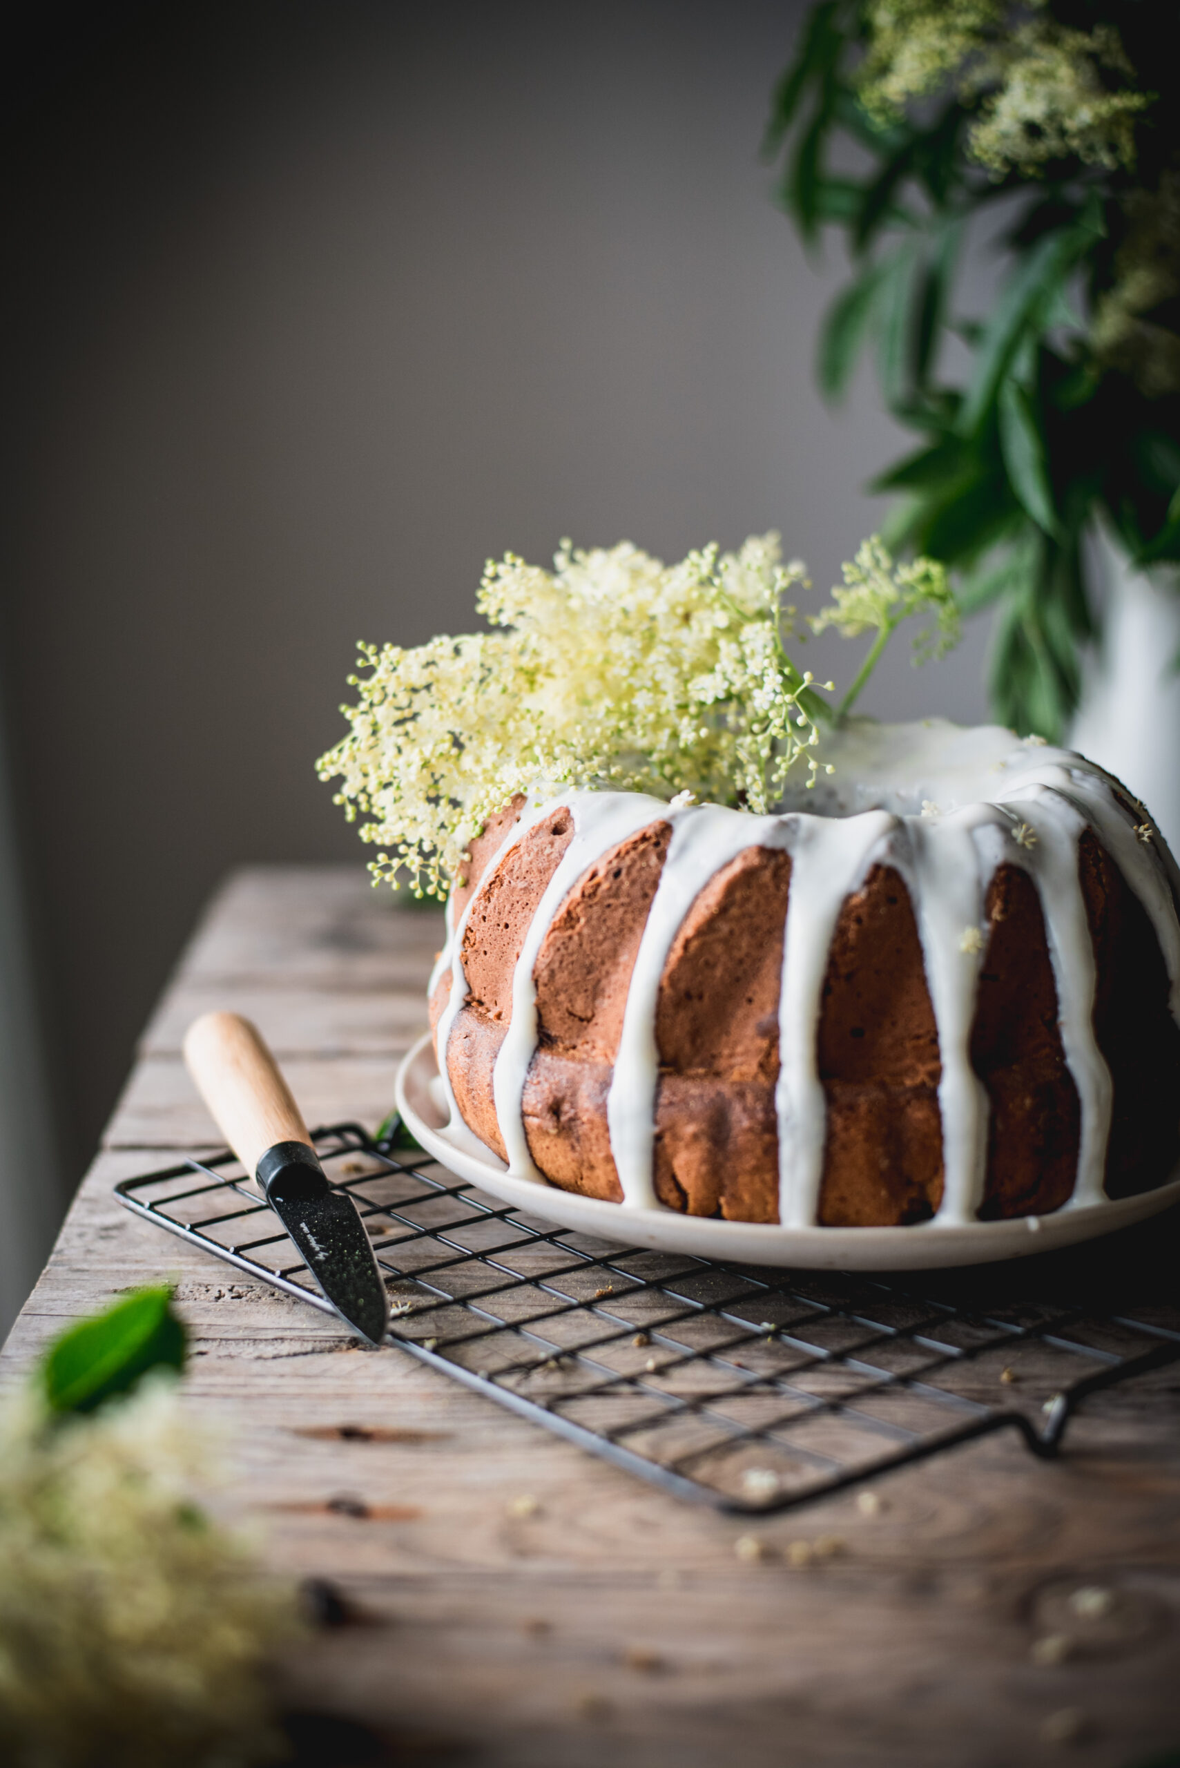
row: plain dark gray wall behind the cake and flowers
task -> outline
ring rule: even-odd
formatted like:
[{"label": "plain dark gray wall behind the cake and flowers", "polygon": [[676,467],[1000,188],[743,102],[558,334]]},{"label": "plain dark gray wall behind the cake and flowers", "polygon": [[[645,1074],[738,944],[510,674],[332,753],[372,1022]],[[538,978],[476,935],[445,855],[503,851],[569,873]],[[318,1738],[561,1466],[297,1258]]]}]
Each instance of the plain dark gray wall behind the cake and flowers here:
[{"label": "plain dark gray wall behind the cake and flowers", "polygon": [[[313,774],[359,636],[465,629],[489,553],[564,534],[680,557],[777,527],[820,594],[880,520],[862,484],[906,442],[867,377],[820,403],[844,267],[758,157],[800,14],[41,14],[2,644],[62,1193],[226,866],[362,863]],[[897,651],[866,711],[984,716],[982,644],[924,677]]]}]

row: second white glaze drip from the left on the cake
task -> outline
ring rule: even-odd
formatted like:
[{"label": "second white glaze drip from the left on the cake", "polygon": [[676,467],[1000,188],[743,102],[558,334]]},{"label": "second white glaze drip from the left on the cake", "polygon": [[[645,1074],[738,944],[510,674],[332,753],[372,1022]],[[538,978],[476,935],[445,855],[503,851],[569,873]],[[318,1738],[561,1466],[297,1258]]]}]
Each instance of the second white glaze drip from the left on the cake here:
[{"label": "second white glaze drip from the left on the cake", "polygon": [[[556,872],[549,879],[546,891],[537,903],[533,918],[521,946],[521,955],[512,972],[512,1018],[503,1043],[496,1054],[491,1086],[496,1107],[496,1123],[509,1155],[509,1172],[518,1179],[535,1179],[544,1183],[544,1174],[528,1153],[521,1100],[528,1064],[537,1050],[537,985],[533,967],[541,951],[541,942],[549,932],[553,916],[569,895],[572,884],[597,859],[625,842],[629,834],[638,834],[654,822],[675,820],[677,812],[657,797],[645,797],[641,792],[569,792],[565,804],[574,819],[574,838],[562,854]],[[555,810],[551,806],[551,810]],[[618,1070],[616,1070],[618,1071]]]}]

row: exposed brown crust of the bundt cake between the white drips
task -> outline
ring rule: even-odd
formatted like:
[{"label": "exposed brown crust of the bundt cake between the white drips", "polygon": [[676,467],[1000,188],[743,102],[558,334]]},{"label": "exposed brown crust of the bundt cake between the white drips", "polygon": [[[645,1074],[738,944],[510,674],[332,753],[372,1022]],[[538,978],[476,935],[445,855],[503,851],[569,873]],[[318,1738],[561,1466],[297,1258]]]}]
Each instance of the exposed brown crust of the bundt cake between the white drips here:
[{"label": "exposed brown crust of the bundt cake between the white drips", "polygon": [[[519,806],[472,843],[466,893]],[[565,817],[565,820],[562,820]],[[574,884],[533,979],[539,1045],[523,1093],[532,1158],[565,1190],[622,1200],[606,1100],[631,972],[671,829],[652,824]],[[511,979],[541,895],[572,836],[558,812],[496,868],[463,944],[470,1001],[456,1015],[449,1068],[466,1123],[500,1155],[491,1071],[511,1018]],[[1180,1029],[1155,932],[1097,836],[1079,877],[1099,965],[1095,1034],[1115,1078],[1108,1188],[1161,1183],[1175,1160]],[[777,1222],[775,1080],[786,852],[745,849],[701,889],[677,932],[655,1006],[659,1086],[655,1193],[669,1208]],[[1070,1195],[1079,1103],[1065,1063],[1040,902],[1002,865],[986,900],[970,1057],[989,1100],[982,1218],[1048,1213]],[[433,1002],[445,999],[445,983]],[[827,1142],[818,1220],[904,1225],[943,1192],[938,1033],[910,893],[871,868],[841,909],[818,1024]]]}]

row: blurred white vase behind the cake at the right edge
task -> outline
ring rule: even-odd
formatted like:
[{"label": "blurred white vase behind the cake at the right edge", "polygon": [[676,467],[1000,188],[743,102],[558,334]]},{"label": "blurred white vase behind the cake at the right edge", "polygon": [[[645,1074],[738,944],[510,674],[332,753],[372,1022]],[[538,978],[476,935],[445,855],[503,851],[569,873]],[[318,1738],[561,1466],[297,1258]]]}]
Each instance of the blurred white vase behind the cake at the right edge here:
[{"label": "blurred white vase behind the cake at the right edge", "polygon": [[1102,640],[1067,741],[1143,799],[1180,854],[1180,569],[1136,569],[1104,532],[1086,553]]}]

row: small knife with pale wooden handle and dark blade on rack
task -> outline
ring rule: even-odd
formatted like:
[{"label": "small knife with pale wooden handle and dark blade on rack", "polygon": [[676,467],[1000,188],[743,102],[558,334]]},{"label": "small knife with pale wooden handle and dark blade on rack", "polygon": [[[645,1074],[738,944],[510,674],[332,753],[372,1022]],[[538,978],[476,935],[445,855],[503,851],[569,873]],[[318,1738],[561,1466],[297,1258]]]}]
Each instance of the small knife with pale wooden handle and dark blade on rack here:
[{"label": "small knife with pale wooden handle and dark blade on rack", "polygon": [[360,1213],[329,1185],[299,1105],[260,1033],[238,1013],[203,1013],[184,1059],[230,1147],[253,1176],[341,1319],[382,1344],[389,1296]]}]

